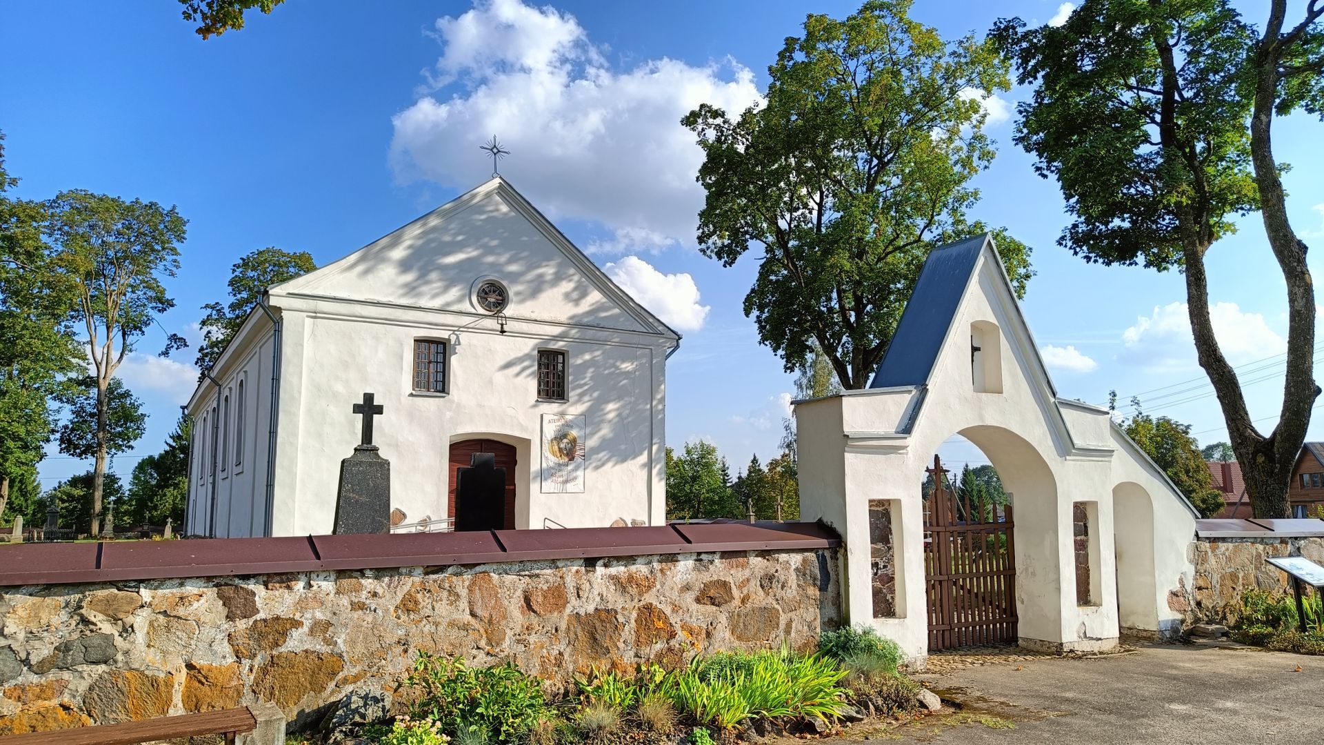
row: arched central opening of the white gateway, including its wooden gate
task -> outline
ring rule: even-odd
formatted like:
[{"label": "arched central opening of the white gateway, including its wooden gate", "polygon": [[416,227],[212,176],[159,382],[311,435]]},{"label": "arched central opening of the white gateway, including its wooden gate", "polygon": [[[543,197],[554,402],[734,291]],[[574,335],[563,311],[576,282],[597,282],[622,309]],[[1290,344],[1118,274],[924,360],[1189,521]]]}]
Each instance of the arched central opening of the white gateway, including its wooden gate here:
[{"label": "arched central opening of the white gateway, including its wooden gate", "polygon": [[1001,427],[961,430],[939,449],[947,463],[935,455],[922,487],[929,651],[1016,644],[1027,607],[1039,611],[1041,595],[1059,590],[1038,586],[1041,567],[1055,561],[1053,473],[1029,441]]}]

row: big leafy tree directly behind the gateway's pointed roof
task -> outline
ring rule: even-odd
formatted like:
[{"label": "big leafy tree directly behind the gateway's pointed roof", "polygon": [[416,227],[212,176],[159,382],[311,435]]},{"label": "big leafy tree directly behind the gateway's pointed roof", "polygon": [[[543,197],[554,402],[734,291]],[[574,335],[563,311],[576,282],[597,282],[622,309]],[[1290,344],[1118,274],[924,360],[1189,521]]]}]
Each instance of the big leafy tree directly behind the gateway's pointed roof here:
[{"label": "big leafy tree directly behind the gateway's pointed roof", "polygon": [[[869,384],[927,253],[986,229],[967,213],[970,179],[993,159],[982,97],[1008,89],[1008,64],[974,37],[944,41],[910,5],[810,15],[761,103],[683,119],[704,151],[700,251],[730,266],[761,249],[744,300],[760,341],[788,371],[817,346],[846,388]],[[1029,249],[998,237],[1023,293]]]}]

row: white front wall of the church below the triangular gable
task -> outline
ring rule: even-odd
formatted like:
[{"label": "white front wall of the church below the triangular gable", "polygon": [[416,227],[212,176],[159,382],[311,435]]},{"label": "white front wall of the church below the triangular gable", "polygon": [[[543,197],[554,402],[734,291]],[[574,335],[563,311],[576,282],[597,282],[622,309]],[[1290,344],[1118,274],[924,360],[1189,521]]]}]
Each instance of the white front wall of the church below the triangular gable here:
[{"label": "white front wall of the church below the triangular gable", "polygon": [[[658,337],[421,309],[282,298],[281,428],[273,534],[330,533],[340,460],[359,443],[352,406],[384,406],[375,444],[391,461],[392,505],[413,522],[446,517],[451,443],[515,445],[516,528],[665,522],[663,359]],[[299,304],[303,304],[302,306]],[[414,341],[448,343],[445,394],[416,392]],[[538,399],[538,351],[567,354],[567,400]],[[584,415],[583,493],[543,493],[544,414]]]}]

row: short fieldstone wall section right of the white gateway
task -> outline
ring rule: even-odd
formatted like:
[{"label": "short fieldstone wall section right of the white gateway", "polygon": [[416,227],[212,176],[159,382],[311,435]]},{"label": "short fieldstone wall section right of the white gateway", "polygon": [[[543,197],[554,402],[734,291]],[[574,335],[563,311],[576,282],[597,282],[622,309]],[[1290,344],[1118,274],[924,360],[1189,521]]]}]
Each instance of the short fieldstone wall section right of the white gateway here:
[{"label": "short fieldstone wall section right of the white gateway", "polygon": [[1254,537],[1200,538],[1188,557],[1196,567],[1193,586],[1185,582],[1168,593],[1168,607],[1182,614],[1182,626],[1235,619],[1246,590],[1291,591],[1287,574],[1267,557],[1303,555],[1324,563],[1324,538]]}]

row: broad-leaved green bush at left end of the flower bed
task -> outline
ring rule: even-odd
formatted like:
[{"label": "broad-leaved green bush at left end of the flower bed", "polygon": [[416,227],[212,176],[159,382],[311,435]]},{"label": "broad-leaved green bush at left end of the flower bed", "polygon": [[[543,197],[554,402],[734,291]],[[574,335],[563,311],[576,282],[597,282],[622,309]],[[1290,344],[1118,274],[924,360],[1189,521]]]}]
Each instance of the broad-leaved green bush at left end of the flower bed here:
[{"label": "broad-leaved green bush at left end of the flower bed", "polygon": [[548,713],[542,684],[514,663],[471,668],[459,658],[418,652],[405,684],[422,693],[412,715],[466,745],[514,742]]}]

